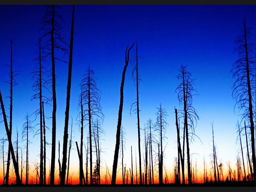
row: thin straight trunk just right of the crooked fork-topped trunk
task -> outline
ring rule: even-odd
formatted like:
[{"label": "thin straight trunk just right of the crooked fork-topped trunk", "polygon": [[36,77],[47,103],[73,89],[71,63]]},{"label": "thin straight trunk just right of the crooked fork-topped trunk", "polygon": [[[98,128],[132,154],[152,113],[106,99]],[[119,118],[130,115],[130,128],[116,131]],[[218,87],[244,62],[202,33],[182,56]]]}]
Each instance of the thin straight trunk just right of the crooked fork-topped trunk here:
[{"label": "thin straight trunk just right of the crooked fork-topped trunk", "polygon": [[138,124],[138,147],[139,147],[139,168],[140,168],[140,184],[141,178],[141,153],[140,153],[140,109],[139,109],[139,71],[138,71],[138,44],[136,43],[136,93],[137,93],[137,124]]}]

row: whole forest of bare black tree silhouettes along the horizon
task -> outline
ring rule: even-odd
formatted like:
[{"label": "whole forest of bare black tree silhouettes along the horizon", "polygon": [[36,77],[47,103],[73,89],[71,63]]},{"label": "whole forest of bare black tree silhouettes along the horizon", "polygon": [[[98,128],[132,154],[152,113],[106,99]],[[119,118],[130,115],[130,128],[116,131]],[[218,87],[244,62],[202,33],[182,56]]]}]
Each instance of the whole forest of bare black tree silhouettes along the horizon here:
[{"label": "whole forest of bare black tree silhouettes along the horizon", "polygon": [[[79,185],[192,185],[192,184],[253,184],[255,186],[256,179],[256,154],[255,154],[255,96],[256,96],[256,78],[255,78],[255,44],[251,39],[251,31],[247,26],[246,21],[241,25],[235,48],[238,53],[238,60],[230,65],[230,73],[233,75],[232,95],[230,98],[236,101],[234,111],[237,115],[237,122],[230,122],[237,128],[237,140],[239,150],[237,150],[236,167],[232,167],[230,162],[222,162],[218,156],[218,143],[215,140],[215,125],[212,119],[211,125],[206,125],[210,130],[209,135],[212,135],[212,140],[209,141],[211,146],[209,164],[202,165],[201,178],[197,175],[198,164],[195,158],[192,158],[191,145],[199,141],[197,136],[197,122],[200,121],[200,112],[197,111],[197,106],[194,105],[194,98],[199,94],[195,89],[197,80],[194,79],[194,74],[189,71],[189,65],[180,64],[175,68],[176,80],[179,82],[173,90],[176,93],[175,98],[169,98],[177,101],[177,106],[172,106],[173,111],[167,111],[166,106],[162,105],[161,100],[159,106],[155,108],[155,119],[148,118],[147,122],[143,122],[140,115],[143,113],[143,108],[140,105],[140,88],[146,86],[140,79],[140,66],[145,64],[138,56],[137,41],[128,42],[124,52],[123,70],[119,74],[113,76],[121,76],[120,87],[114,87],[119,90],[119,110],[115,115],[117,118],[116,135],[113,138],[105,138],[104,129],[104,113],[101,105],[101,91],[98,88],[98,74],[94,72],[93,64],[83,65],[83,76],[80,84],[73,84],[72,69],[77,63],[73,62],[73,48],[76,47],[74,38],[76,37],[75,6],[72,6],[72,12],[67,13],[71,18],[70,26],[70,43],[67,44],[63,38],[61,29],[64,22],[61,15],[58,13],[59,6],[49,5],[45,7],[44,16],[40,22],[41,30],[44,32],[38,38],[37,58],[35,58],[36,66],[31,72],[33,83],[31,84],[34,95],[31,101],[37,106],[36,111],[19,111],[20,116],[25,116],[23,119],[22,132],[14,134],[13,129],[13,100],[15,86],[18,86],[15,77],[21,72],[13,70],[13,58],[17,57],[18,52],[13,52],[13,40],[11,40],[11,52],[6,49],[6,55],[10,54],[9,79],[6,82],[9,84],[9,95],[3,96],[0,90],[0,122],[1,128],[4,127],[5,135],[1,135],[0,154],[2,156],[3,165],[0,169],[3,171],[3,186],[11,184],[29,186],[37,184],[45,185],[72,185],[73,175],[70,171],[70,153],[73,150],[77,152],[76,161],[79,162],[76,172],[78,173]],[[134,54],[134,57],[131,55]],[[63,57],[60,57],[62,55]],[[68,55],[68,59],[65,57]],[[56,71],[55,65],[60,63],[67,70],[66,93],[56,91]],[[133,68],[131,76],[127,74],[128,66]],[[16,68],[16,67],[15,67]],[[127,77],[128,76],[128,77]],[[66,77],[65,77],[66,78]],[[131,78],[134,82],[134,95],[136,98],[131,104],[130,114],[136,114],[136,125],[131,125],[129,128],[124,128],[122,125],[123,105],[128,102],[128,93],[125,92],[125,86],[128,86],[126,81]],[[66,84],[67,83],[67,84]],[[76,98],[78,103],[77,125],[79,126],[79,138],[73,136],[73,117],[70,116],[70,94],[74,90],[73,87],[78,86],[80,89],[79,96]],[[167,88],[168,89],[168,88]],[[23,94],[23,93],[19,93]],[[57,100],[57,95],[64,95],[66,98],[64,116],[64,127],[57,125],[56,111],[60,105]],[[106,95],[104,95],[106,96]],[[198,96],[199,98],[200,96]],[[159,97],[161,99],[161,97]],[[159,99],[158,98],[158,99]],[[117,101],[115,101],[117,102]],[[57,105],[58,104],[58,105]],[[39,105],[39,106],[38,106]],[[51,114],[46,110],[51,110]],[[142,111],[142,112],[141,112]],[[169,121],[168,117],[172,116],[175,122]],[[46,119],[51,121],[47,124]],[[115,122],[113,122],[115,123]],[[2,126],[3,124],[3,126]],[[114,127],[114,126],[113,126]],[[166,134],[167,128],[175,131],[176,140],[169,140]],[[46,134],[46,130],[51,131],[51,135]],[[126,146],[126,130],[132,129],[134,140],[136,143]],[[234,128],[235,129],[235,128]],[[57,140],[56,135],[60,134],[63,140],[62,143]],[[39,146],[33,145],[30,140],[36,137],[40,143]],[[51,140],[49,139],[51,138]],[[115,148],[112,167],[104,165],[104,148],[102,140],[114,140]],[[242,142],[246,141],[246,142]],[[166,143],[175,143],[175,166],[173,171],[166,170],[172,160],[166,159],[166,154],[169,153],[169,148],[166,148]],[[24,144],[25,143],[25,144]],[[74,144],[75,143],[75,144]],[[24,145],[23,145],[24,144]],[[62,146],[62,150],[61,150]],[[36,158],[39,162],[32,162],[29,159],[29,153],[32,148],[38,147],[39,154]],[[47,154],[46,148],[51,148],[51,153]],[[62,154],[61,154],[62,152]],[[56,154],[58,156],[56,157]],[[58,165],[56,166],[58,158]],[[49,161],[49,162],[47,162]],[[111,162],[111,163],[112,163]],[[34,163],[34,167],[33,167]],[[225,169],[228,172],[224,172]],[[118,181],[118,175],[121,176],[121,182]]]}]

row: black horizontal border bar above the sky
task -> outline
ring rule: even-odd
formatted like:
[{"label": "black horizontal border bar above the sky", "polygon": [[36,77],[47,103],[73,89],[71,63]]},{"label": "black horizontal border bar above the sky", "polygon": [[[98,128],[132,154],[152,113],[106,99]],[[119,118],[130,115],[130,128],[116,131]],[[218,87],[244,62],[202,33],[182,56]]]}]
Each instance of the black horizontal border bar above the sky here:
[{"label": "black horizontal border bar above the sky", "polygon": [[1,0],[0,5],[256,5],[255,0]]}]

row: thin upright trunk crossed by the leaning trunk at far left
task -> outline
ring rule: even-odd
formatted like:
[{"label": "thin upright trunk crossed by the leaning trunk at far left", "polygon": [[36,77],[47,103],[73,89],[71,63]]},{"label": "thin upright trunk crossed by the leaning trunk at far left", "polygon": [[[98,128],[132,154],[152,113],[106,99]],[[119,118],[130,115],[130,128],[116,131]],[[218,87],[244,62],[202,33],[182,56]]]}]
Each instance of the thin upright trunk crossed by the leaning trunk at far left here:
[{"label": "thin upright trunk crossed by the leaning trunk at far left", "polygon": [[[11,63],[10,63],[10,122],[9,122],[9,133],[12,139],[12,93],[13,93],[13,70],[12,70],[12,44],[13,41],[11,40]],[[11,151],[10,151],[10,144],[8,147],[8,154],[7,154],[7,166],[6,166],[6,185],[9,185],[9,171],[10,171],[10,163],[11,163]]]}]

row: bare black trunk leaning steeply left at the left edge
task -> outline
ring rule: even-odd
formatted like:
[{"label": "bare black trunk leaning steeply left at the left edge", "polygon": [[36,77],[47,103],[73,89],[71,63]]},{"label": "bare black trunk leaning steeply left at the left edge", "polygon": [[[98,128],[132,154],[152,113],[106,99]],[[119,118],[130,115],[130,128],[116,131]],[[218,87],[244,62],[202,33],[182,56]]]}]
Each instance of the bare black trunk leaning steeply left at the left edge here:
[{"label": "bare black trunk leaning steeply left at the left edge", "polygon": [[2,113],[3,113],[4,125],[5,125],[5,128],[6,128],[6,134],[7,134],[8,141],[9,141],[10,153],[12,155],[12,162],[13,162],[13,166],[14,166],[14,169],[15,169],[16,184],[21,184],[20,183],[20,175],[19,175],[19,167],[18,167],[17,161],[15,159],[15,154],[14,154],[13,145],[12,145],[12,138],[11,138],[10,131],[8,129],[8,122],[7,122],[6,112],[5,112],[4,105],[3,105],[3,98],[2,98],[1,91],[0,91],[0,103],[1,103]]}]

